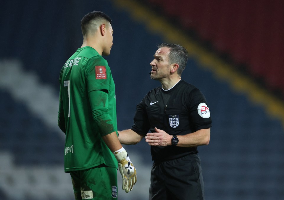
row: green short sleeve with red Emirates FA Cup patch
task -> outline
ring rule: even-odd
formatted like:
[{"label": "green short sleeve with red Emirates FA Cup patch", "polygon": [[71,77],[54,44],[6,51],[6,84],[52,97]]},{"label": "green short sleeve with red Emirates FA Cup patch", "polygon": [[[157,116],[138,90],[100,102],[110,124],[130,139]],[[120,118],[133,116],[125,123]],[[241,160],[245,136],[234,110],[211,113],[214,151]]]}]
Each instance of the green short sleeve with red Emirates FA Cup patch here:
[{"label": "green short sleeve with red Emirates FA Cup patch", "polygon": [[85,68],[85,80],[88,92],[109,90],[110,69],[105,59],[90,58]]}]

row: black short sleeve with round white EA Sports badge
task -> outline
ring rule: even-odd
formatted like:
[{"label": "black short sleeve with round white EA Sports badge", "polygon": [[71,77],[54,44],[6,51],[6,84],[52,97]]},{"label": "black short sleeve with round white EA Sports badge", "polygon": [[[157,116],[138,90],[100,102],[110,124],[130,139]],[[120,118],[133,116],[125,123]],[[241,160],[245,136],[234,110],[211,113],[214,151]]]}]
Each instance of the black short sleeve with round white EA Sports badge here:
[{"label": "black short sleeve with round white EA Sports badge", "polygon": [[189,118],[195,131],[212,126],[211,113],[203,93],[195,88],[189,94]]}]

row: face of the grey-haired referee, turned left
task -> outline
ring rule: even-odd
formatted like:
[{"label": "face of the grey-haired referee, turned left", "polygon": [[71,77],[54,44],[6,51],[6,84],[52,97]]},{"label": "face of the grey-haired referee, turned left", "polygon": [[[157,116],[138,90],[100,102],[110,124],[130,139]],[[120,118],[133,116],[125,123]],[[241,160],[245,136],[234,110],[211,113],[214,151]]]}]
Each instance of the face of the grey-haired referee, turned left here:
[{"label": "face of the grey-haired referee, turned left", "polygon": [[150,63],[152,66],[151,79],[162,80],[170,76],[169,53],[170,48],[168,47],[161,47],[156,51]]}]

